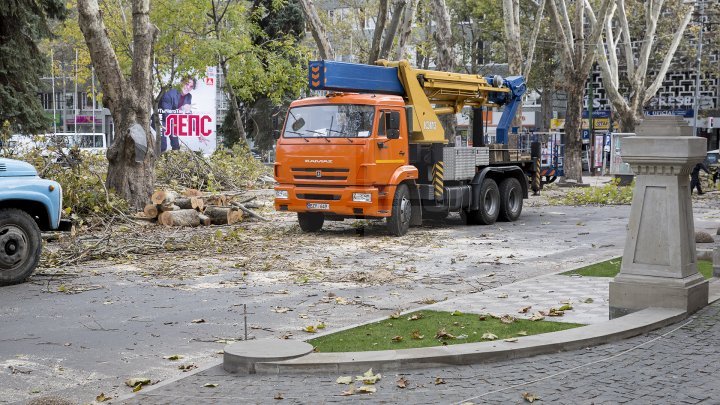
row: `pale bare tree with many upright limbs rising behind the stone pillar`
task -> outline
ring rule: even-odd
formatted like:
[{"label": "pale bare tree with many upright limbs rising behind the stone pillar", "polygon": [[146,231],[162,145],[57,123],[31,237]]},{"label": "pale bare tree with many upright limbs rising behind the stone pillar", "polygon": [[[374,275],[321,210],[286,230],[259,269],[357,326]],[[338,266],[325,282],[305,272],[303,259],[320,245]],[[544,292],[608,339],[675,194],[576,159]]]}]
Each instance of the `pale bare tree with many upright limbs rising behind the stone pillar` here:
[{"label": "pale bare tree with many upright limbs rising behind the stone pillar", "polygon": [[[616,0],[617,15],[616,31],[613,31],[612,21],[609,19],[605,27],[605,43],[597,47],[598,65],[603,78],[603,85],[607,91],[612,108],[619,118],[622,132],[635,132],[635,125],[643,116],[643,106],[655,96],[662,85],[665,74],[675,51],[680,45],[685,28],[692,17],[692,7],[687,7],[685,15],[676,25],[669,49],[663,50],[664,58],[657,70],[655,80],[648,85],[648,69],[651,52],[657,46],[658,19],[662,15],[664,0],[646,1],[645,6],[645,35],[641,39],[642,46],[637,52],[633,50],[630,38],[630,26],[625,8],[625,0]],[[613,13],[614,14],[614,13]],[[620,46],[620,55],[624,57],[627,66],[624,73],[627,75],[629,99],[620,94],[620,69],[615,50]]]}]

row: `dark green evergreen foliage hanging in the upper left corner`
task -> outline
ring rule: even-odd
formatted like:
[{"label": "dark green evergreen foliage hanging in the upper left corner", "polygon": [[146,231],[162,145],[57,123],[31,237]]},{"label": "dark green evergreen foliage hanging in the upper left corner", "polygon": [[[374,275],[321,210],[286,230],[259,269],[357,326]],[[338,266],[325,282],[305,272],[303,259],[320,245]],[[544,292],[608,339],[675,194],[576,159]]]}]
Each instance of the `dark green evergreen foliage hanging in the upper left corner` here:
[{"label": "dark green evergreen foliage hanging in the upper left corner", "polygon": [[48,19],[64,16],[60,0],[0,2],[0,123],[13,131],[44,132],[50,123],[37,97],[49,68],[38,44],[51,35]]}]

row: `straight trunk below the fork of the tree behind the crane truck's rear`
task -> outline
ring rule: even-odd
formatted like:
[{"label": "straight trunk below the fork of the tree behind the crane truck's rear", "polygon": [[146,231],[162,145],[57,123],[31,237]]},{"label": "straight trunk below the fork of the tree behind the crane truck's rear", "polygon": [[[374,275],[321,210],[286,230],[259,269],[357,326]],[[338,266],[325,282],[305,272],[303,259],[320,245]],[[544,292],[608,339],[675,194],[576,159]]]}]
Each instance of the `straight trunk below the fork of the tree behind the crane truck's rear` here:
[{"label": "straight trunk below the fork of the tree behind the crane truck's rear", "polygon": [[585,76],[571,76],[568,81],[567,113],[565,116],[565,180],[582,183],[582,123]]}]

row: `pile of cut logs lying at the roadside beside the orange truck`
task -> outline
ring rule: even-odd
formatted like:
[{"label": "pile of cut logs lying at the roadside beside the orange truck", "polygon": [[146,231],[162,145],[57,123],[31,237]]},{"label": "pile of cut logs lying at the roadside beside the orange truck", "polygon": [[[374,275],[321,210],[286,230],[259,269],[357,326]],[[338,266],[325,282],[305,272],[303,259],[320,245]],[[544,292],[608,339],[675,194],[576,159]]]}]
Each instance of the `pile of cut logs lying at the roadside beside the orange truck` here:
[{"label": "pile of cut logs lying at the roadside beside the orange truck", "polygon": [[244,214],[266,220],[225,194],[205,195],[187,189],[180,195],[172,190],[157,190],[150,201],[139,217],[157,219],[158,224],[166,226],[231,225],[242,221]]}]

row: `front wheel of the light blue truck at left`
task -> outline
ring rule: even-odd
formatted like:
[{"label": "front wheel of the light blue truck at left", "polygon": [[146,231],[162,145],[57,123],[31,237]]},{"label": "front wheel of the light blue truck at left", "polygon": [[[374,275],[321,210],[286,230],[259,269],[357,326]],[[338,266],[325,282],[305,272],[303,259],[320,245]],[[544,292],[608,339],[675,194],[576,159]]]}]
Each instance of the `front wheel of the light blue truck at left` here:
[{"label": "front wheel of the light blue truck at left", "polygon": [[32,217],[23,210],[0,209],[0,285],[27,280],[41,253],[40,228]]}]

